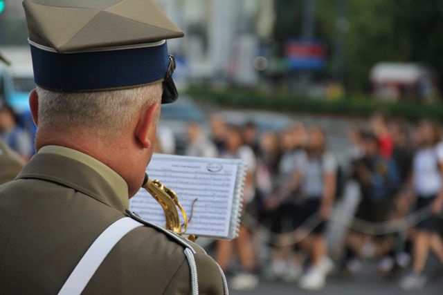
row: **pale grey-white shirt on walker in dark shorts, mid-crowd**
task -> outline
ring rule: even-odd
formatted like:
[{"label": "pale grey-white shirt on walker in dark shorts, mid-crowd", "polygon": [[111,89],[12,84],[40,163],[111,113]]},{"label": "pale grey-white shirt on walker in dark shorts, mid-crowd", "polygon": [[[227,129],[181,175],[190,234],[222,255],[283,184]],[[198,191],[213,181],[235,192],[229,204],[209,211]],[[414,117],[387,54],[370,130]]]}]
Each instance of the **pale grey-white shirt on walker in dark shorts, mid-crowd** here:
[{"label": "pale grey-white shirt on walker in dark shorts, mid-crowd", "polygon": [[302,193],[307,199],[323,197],[324,177],[327,173],[335,174],[338,162],[332,151],[325,151],[321,159],[309,158],[307,153],[298,166],[303,175]]}]

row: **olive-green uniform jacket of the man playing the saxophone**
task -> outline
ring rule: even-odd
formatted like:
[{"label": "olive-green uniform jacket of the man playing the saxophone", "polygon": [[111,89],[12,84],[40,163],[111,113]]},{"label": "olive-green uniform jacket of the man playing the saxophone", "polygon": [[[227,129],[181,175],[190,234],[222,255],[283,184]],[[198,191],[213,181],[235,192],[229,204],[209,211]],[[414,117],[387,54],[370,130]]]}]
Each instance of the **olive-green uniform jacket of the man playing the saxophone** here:
[{"label": "olive-green uniform jacket of the man playing the saxophone", "polygon": [[[39,152],[16,180],[0,186],[0,294],[57,294],[102,231],[131,215],[109,175],[85,163]],[[227,292],[219,266],[192,247],[199,293]],[[184,249],[159,229],[138,227],[111,250],[82,294],[190,294]]]}]

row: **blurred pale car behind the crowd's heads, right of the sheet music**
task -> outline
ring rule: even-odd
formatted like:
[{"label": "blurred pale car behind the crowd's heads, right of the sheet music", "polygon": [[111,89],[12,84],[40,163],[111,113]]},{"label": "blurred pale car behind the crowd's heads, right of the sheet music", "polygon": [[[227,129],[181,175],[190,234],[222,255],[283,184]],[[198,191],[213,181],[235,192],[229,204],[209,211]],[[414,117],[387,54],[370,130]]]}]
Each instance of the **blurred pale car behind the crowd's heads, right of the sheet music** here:
[{"label": "blurred pale car behind the crowd's heads, right of the sheet music", "polygon": [[257,126],[259,133],[263,131],[280,132],[293,125],[295,121],[288,115],[270,111],[220,111],[228,124],[243,126],[247,122],[253,122]]}]

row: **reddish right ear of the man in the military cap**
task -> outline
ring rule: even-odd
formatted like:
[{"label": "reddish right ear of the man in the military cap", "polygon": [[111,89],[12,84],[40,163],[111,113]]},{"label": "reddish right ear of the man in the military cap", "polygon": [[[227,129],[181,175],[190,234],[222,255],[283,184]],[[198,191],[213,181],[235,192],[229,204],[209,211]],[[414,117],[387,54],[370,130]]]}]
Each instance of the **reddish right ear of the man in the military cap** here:
[{"label": "reddish right ear of the man in the military cap", "polygon": [[134,135],[144,149],[150,149],[155,141],[157,113],[160,111],[160,108],[161,105],[156,102],[146,108],[138,117]]}]

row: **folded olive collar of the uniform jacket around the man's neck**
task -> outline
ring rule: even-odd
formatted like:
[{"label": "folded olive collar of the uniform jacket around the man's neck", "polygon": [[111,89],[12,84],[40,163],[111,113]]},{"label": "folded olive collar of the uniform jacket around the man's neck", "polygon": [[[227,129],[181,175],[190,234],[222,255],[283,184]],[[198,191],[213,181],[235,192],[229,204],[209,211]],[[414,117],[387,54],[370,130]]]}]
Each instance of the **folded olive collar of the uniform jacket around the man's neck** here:
[{"label": "folded olive collar of the uniform jacket around the man's neck", "polygon": [[48,180],[125,211],[129,207],[127,183],[102,162],[63,146],[44,146],[17,178]]}]

